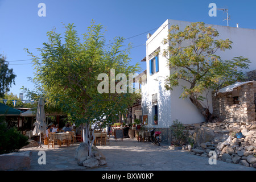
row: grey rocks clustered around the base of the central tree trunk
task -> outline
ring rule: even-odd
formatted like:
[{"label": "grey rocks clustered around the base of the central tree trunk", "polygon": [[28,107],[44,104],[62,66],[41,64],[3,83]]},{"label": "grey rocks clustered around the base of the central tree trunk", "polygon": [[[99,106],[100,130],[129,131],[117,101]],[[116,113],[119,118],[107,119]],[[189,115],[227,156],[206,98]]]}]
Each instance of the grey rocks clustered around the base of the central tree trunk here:
[{"label": "grey rocks clustered around the base of the central tree trunk", "polygon": [[98,150],[96,146],[92,146],[92,155],[88,155],[88,145],[81,143],[76,149],[77,164],[84,167],[99,167],[106,164],[105,156]]}]

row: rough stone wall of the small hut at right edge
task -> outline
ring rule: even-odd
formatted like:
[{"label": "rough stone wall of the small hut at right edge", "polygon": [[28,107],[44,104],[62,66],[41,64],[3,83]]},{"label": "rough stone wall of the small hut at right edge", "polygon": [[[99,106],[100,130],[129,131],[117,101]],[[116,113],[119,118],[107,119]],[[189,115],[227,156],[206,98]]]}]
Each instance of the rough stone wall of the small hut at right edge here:
[{"label": "rough stone wall of the small hut at right edge", "polygon": [[[213,92],[213,94],[215,94]],[[213,114],[221,122],[255,121],[255,96],[252,83],[237,87],[237,96],[232,92],[213,95]]]}]

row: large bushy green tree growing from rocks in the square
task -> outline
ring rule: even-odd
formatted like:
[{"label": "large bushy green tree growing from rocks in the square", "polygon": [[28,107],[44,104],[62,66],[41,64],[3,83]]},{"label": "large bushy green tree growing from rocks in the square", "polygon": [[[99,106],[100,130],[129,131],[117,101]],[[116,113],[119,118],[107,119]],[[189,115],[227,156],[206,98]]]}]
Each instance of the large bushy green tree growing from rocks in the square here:
[{"label": "large bushy green tree growing from rocks in the square", "polygon": [[40,97],[70,114],[77,125],[84,125],[84,142],[90,150],[93,143],[90,126],[115,121],[119,111],[124,113],[135,99],[135,94],[131,93],[99,93],[97,87],[102,80],[98,80],[98,75],[106,73],[110,77],[110,69],[126,76],[139,71],[138,64],[130,65],[127,50],[120,50],[123,38],[115,38],[110,47],[105,46],[102,28],[101,24],[93,22],[80,39],[75,26],[68,24],[64,38],[55,30],[47,32],[48,43],[38,49],[42,60],[31,53],[36,69],[34,81],[40,85],[37,89],[40,89]]}]

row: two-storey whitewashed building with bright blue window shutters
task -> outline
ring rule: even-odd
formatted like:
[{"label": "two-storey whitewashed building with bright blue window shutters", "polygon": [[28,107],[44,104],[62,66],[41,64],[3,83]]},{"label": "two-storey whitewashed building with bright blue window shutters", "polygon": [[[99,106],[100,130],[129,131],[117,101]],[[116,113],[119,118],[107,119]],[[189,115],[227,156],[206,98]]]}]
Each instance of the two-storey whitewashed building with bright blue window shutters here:
[{"label": "two-storey whitewashed building with bright blue window shutters", "polygon": [[[172,91],[164,88],[164,80],[170,76],[170,69],[166,57],[162,55],[163,50],[167,48],[162,41],[167,38],[168,30],[173,24],[179,25],[180,30],[184,30],[191,22],[167,19],[146,42],[147,79],[142,83],[142,114],[143,118],[147,117],[148,127],[169,128],[175,119],[179,119],[184,124],[204,122],[203,115],[189,98],[185,100],[179,98],[183,92],[180,86]],[[219,32],[217,39],[229,39],[233,42],[232,49],[217,52],[222,60],[230,60],[236,56],[247,57],[252,63],[250,70],[246,72],[256,69],[256,30],[209,24],[206,26],[212,26]],[[158,51],[158,56],[154,56],[154,52]],[[208,102],[212,111],[211,94]],[[158,114],[158,125],[154,124],[155,114]]]}]

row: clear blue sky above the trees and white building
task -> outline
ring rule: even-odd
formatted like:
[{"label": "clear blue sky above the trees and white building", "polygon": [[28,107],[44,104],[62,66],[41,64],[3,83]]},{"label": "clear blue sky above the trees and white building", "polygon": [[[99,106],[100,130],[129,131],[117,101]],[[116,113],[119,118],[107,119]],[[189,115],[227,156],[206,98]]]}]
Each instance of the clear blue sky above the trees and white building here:
[{"label": "clear blue sky above the trees and white building", "polygon": [[[39,17],[39,3],[46,4],[46,17]],[[7,57],[9,68],[14,69],[15,85],[11,92],[19,95],[20,88],[33,89],[27,77],[34,77],[30,56],[24,51],[28,48],[39,56],[36,48],[42,48],[47,42],[46,32],[53,27],[63,33],[64,24],[74,23],[79,35],[86,32],[90,22],[101,23],[106,28],[106,43],[115,36],[130,38],[143,32],[158,28],[166,19],[185,20],[188,22],[205,22],[226,26],[226,14],[217,11],[216,17],[210,17],[209,3],[216,3],[218,8],[228,9],[231,20],[229,26],[256,29],[256,1],[219,1],[219,0],[0,0],[0,53]],[[132,43],[130,57],[132,64],[140,62],[146,55],[146,35],[142,34],[126,40],[125,45]],[[16,61],[27,60],[27,61]],[[142,71],[146,64],[141,63]]]}]

